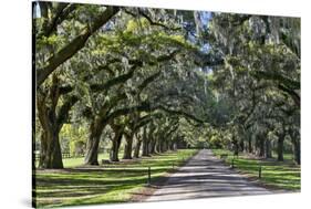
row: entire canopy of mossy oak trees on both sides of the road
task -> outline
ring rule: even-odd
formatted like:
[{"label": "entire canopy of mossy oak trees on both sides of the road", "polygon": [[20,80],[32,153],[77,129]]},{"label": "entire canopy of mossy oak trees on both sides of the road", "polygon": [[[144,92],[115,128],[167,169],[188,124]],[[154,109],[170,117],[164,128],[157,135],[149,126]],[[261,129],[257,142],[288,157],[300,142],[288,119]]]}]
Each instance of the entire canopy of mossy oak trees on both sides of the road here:
[{"label": "entire canopy of mossy oak trees on both sides of the road", "polygon": [[122,144],[131,159],[225,132],[237,151],[247,142],[249,151],[261,150],[271,132],[280,142],[290,137],[300,163],[298,19],[34,7],[33,135],[41,168],[63,168],[64,124],[84,130],[87,165],[99,165],[101,142],[110,142],[110,159],[117,161]]}]

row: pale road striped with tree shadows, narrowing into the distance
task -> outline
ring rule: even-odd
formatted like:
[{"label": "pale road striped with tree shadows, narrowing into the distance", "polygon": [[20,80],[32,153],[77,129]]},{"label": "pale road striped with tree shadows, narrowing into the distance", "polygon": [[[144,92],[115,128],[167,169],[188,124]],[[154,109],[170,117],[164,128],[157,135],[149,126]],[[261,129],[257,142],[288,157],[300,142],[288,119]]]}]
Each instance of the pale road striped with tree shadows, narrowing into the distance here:
[{"label": "pale road striped with tree shadows, narrowing into the distance", "polygon": [[145,196],[149,196],[146,201],[160,201],[273,192],[277,191],[259,187],[226,166],[211,150],[203,149],[173,174],[165,185]]}]

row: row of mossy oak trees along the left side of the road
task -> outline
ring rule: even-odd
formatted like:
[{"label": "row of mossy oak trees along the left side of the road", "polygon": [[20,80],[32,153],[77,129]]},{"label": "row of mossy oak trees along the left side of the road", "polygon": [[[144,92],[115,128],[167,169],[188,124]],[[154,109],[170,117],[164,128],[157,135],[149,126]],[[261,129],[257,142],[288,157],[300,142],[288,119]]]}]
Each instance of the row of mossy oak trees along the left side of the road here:
[{"label": "row of mossy oak trees along the left side of the road", "polygon": [[[40,167],[62,168],[64,124],[87,127],[85,164],[99,165],[103,132],[111,160],[176,148],[178,121],[201,122],[207,97],[195,65],[210,61],[165,10],[40,2],[34,19]],[[186,12],[187,13],[187,12]],[[51,28],[53,27],[53,29]],[[50,32],[48,32],[50,31]],[[189,86],[189,87],[188,87]]]}]

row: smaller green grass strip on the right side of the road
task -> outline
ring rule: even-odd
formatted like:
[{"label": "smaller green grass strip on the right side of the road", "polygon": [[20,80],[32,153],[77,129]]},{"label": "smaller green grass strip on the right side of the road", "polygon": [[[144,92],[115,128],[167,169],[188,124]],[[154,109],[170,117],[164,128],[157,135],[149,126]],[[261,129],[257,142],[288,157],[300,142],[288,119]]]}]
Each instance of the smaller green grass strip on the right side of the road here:
[{"label": "smaller green grass strip on the right side of the road", "polygon": [[[220,157],[227,154],[227,164],[231,164],[234,158],[232,153],[224,149],[212,149],[212,153]],[[258,178],[259,166],[261,166],[260,181],[272,188],[280,188],[286,190],[300,190],[300,166],[292,161],[292,155],[286,154],[284,161],[277,161],[276,159],[259,160],[239,154],[239,157],[234,159],[235,168],[247,174],[250,177]]]}]

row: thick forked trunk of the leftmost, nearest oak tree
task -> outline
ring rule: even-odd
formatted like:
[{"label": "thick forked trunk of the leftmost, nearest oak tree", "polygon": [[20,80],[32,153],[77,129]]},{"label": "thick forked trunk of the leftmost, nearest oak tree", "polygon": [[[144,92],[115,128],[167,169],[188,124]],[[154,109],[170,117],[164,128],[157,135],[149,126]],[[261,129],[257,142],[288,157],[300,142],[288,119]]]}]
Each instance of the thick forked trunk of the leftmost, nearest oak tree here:
[{"label": "thick forked trunk of the leftmost, nearest oak tree", "polygon": [[37,91],[38,117],[43,129],[41,135],[41,168],[63,168],[62,151],[59,135],[62,125],[69,117],[71,107],[77,102],[76,96],[69,96],[59,105],[61,96],[60,80],[54,74],[52,85],[48,91],[39,88]]}]

